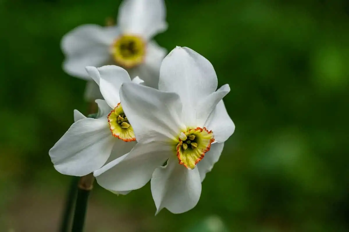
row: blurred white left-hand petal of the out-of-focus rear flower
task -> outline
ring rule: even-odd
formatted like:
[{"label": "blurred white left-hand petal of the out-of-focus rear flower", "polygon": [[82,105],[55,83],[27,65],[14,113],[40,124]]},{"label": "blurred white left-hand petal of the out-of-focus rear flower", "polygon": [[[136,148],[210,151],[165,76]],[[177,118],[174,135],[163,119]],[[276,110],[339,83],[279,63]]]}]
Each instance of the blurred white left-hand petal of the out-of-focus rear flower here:
[{"label": "blurred white left-hand petal of the out-of-focus rear flower", "polygon": [[110,61],[110,45],[120,34],[115,26],[82,25],[68,32],[61,41],[66,56],[64,70],[70,75],[90,79],[85,67],[102,66]]}]

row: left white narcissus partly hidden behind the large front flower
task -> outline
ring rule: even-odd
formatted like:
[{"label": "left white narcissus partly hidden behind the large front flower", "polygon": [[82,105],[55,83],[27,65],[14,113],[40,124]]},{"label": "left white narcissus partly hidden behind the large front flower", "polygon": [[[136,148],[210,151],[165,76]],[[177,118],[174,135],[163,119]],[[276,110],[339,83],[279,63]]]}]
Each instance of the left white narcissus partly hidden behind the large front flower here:
[{"label": "left white narcissus partly hidden behind the large front flower", "polygon": [[[49,154],[54,167],[62,174],[84,176],[101,168],[129,151],[136,144],[136,138],[122,105],[119,89],[122,83],[130,82],[126,72],[118,66],[101,68],[87,67],[103,94],[105,100],[97,99],[98,113],[95,118],[87,118],[74,111],[74,123]],[[133,83],[142,80],[136,77]]]}]

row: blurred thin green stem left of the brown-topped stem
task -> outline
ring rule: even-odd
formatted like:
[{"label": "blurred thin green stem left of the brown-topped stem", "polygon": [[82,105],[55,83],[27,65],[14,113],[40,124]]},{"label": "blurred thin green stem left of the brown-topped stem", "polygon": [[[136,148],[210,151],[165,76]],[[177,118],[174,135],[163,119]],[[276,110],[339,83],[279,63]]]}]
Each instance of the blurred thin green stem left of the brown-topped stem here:
[{"label": "blurred thin green stem left of the brown-topped stem", "polygon": [[76,185],[78,182],[79,182],[79,177],[73,176],[72,181],[70,182],[67,195],[66,195],[66,202],[64,205],[64,211],[62,215],[61,227],[59,229],[60,232],[68,232],[69,221],[72,215],[73,205],[75,203]]}]

